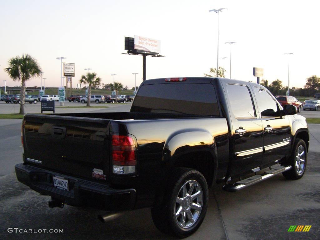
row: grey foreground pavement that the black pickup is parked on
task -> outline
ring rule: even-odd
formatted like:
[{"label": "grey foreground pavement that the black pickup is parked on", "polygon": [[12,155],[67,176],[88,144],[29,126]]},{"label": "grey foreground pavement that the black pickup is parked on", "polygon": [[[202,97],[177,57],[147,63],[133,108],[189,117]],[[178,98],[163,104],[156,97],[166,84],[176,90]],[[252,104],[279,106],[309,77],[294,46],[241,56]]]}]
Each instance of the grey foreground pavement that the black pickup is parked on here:
[{"label": "grey foreground pavement that the black pickup is parked on", "polygon": [[[116,107],[106,109],[118,111]],[[0,120],[1,133],[15,126],[4,132],[4,140],[12,137],[11,131],[16,136],[6,148],[17,149],[21,145],[20,124],[21,120]],[[236,193],[223,191],[221,184],[214,186],[203,224],[186,239],[227,239],[225,231],[230,240],[319,239],[320,124],[308,126],[310,147],[303,178],[286,180],[280,174]],[[175,239],[155,228],[149,209],[126,212],[108,223],[98,221],[97,215],[102,211],[68,205],[50,209],[49,196],[41,196],[16,180],[10,155],[4,161],[11,171],[0,176],[0,239]],[[20,153],[17,155],[20,162]],[[288,232],[292,225],[312,227],[309,232]],[[10,233],[8,228],[63,229],[63,233]]]}]

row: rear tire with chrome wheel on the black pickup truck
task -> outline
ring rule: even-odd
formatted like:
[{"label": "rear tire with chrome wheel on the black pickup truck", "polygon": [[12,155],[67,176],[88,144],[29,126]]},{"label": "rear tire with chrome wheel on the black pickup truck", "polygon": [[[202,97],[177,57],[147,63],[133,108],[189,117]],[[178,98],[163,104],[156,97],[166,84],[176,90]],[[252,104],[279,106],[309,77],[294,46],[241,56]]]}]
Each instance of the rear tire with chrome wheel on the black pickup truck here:
[{"label": "rear tire with chrome wheel on the black pickup truck", "polygon": [[177,237],[193,234],[201,225],[208,206],[208,185],[204,176],[191,168],[175,168],[163,203],[151,209],[156,227]]}]

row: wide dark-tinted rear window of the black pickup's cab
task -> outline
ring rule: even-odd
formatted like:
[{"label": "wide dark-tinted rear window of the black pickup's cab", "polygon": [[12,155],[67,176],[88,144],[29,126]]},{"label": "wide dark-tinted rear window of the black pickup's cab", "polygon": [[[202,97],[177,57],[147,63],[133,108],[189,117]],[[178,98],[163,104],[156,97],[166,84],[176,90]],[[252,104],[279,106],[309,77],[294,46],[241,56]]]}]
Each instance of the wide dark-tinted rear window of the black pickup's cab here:
[{"label": "wide dark-tinted rear window of the black pickup's cab", "polygon": [[131,112],[219,116],[217,97],[211,84],[143,85],[135,96]]}]

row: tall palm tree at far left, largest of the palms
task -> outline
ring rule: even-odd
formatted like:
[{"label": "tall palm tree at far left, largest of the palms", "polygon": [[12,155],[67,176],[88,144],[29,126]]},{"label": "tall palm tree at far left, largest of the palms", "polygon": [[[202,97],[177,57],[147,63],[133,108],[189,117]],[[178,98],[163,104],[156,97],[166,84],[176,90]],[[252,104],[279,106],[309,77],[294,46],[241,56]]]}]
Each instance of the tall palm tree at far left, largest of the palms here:
[{"label": "tall palm tree at far left, largest of the palms", "polygon": [[21,90],[20,90],[20,112],[19,114],[25,114],[25,92],[26,92],[26,81],[30,80],[32,77],[39,76],[41,73],[41,68],[33,57],[29,54],[23,54],[22,57],[16,56],[9,59],[8,68],[4,68],[10,78],[13,81],[21,80]]}]

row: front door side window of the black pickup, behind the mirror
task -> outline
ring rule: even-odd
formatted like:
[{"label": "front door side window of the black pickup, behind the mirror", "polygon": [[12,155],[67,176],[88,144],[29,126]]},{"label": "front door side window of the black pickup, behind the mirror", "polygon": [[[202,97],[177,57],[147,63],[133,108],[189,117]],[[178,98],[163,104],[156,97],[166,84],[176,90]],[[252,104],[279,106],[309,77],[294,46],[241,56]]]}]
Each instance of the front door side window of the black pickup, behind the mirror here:
[{"label": "front door side window of the black pickup, behind the mirror", "polygon": [[260,87],[254,87],[254,95],[261,116],[276,116],[275,112],[278,111],[278,105],[267,91]]}]

